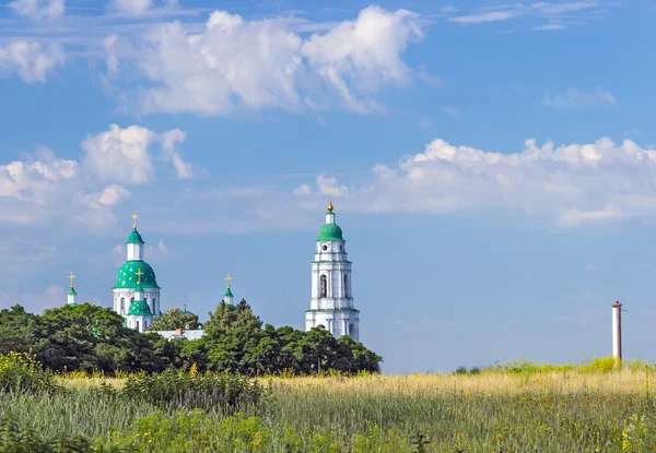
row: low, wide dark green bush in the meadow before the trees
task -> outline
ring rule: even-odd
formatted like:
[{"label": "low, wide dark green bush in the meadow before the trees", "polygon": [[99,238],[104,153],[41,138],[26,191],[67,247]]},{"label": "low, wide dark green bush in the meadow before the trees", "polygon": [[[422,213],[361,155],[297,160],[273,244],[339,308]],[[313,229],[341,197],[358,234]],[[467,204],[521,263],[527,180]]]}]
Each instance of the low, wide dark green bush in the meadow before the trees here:
[{"label": "low, wide dark green bush in the meadow before the trees", "polygon": [[263,389],[257,381],[239,375],[167,370],[161,374],[129,377],[120,393],[167,408],[220,409],[232,414],[256,405]]}]

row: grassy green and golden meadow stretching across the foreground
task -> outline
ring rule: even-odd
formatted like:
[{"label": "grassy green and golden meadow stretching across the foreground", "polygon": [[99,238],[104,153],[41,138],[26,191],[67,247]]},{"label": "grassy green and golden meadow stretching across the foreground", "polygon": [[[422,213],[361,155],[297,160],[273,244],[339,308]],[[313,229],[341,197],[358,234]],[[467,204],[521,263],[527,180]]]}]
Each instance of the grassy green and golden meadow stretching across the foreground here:
[{"label": "grassy green and golden meadow stretching across the foreground", "polygon": [[[2,450],[12,437],[65,445],[62,434],[71,445],[73,437],[87,443],[59,451],[656,451],[656,370],[648,363],[523,361],[453,374],[257,382],[176,375],[155,382],[77,373],[57,377],[55,391],[4,391],[0,452],[21,451]],[[211,380],[195,384],[202,379]],[[215,392],[202,393],[213,385],[224,390],[219,404]]]}]

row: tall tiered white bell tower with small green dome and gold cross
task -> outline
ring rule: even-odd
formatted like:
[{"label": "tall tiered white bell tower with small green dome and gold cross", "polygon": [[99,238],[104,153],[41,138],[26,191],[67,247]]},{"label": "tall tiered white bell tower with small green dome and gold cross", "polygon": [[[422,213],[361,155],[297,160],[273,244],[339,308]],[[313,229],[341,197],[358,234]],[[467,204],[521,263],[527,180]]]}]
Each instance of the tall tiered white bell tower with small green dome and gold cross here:
[{"label": "tall tiered white bell tower with small green dome and gold cross", "polygon": [[351,262],[332,211],[331,199],[312,262],[312,298],[305,312],[305,330],[326,329],[336,337],[349,335],[358,342],[360,311],[353,307]]}]

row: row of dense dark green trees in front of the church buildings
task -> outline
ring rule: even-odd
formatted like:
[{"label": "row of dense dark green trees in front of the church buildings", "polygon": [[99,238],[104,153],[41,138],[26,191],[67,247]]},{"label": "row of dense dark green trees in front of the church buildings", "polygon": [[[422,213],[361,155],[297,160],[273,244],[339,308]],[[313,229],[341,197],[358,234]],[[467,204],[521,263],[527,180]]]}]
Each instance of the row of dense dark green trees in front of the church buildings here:
[{"label": "row of dense dark green trees in front of the church buildings", "polygon": [[220,302],[202,325],[198,315],[169,309],[156,318],[156,330],[194,330],[200,339],[166,339],[155,332],[141,334],[124,326],[124,318],[109,308],[83,303],[28,313],[21,306],[0,311],[0,354],[32,354],[56,371],[160,372],[165,369],[227,371],[245,375],[309,374],[338,370],[377,372],[382,357],[349,336],[276,329],[253,313],[244,299]]}]

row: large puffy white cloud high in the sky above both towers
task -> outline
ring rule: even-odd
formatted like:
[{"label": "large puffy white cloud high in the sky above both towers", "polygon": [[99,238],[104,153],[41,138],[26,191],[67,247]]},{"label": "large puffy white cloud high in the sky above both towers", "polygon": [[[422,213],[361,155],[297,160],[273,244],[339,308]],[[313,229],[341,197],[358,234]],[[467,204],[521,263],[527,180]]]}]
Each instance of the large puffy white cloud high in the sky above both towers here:
[{"label": "large puffy white cloud high in the sky above both towers", "polygon": [[133,40],[105,41],[110,75],[136,70],[143,112],[230,115],[238,109],[323,109],[339,105],[382,111],[376,94],[410,83],[401,60],[423,36],[419,15],[378,7],[354,21],[309,36],[283,19],[245,20],[215,11],[201,33],[179,22],[157,25]]}]

